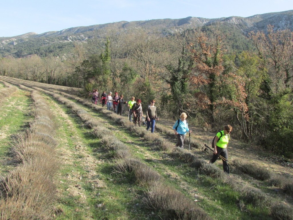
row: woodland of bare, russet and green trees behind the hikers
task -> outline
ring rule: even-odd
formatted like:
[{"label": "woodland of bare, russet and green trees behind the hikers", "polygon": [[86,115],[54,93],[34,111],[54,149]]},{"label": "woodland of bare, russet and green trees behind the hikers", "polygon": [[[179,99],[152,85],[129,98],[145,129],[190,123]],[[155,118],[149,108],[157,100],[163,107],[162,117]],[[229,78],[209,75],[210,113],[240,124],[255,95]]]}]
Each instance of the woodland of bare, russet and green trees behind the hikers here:
[{"label": "woodland of bare, russet and green trees behind the hikers", "polygon": [[66,54],[2,57],[0,75],[83,88],[84,96],[118,92],[144,108],[155,99],[159,117],[186,112],[189,123],[213,130],[230,124],[234,138],[292,158],[292,35],[270,25],[247,39],[219,24],[169,35],[110,30],[72,42]]}]

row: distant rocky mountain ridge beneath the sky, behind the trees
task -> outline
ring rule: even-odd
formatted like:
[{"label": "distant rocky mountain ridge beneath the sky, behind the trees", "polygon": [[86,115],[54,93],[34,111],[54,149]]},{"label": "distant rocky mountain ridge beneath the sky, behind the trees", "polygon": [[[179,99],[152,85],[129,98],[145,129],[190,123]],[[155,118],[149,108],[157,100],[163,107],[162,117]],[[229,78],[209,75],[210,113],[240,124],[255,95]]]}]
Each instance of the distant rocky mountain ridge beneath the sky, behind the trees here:
[{"label": "distant rocky mountain ridge beneath the sky, behind the trees", "polygon": [[187,17],[148,21],[120,21],[67,28],[42,34],[26,33],[14,37],[0,37],[0,56],[24,57],[29,54],[38,54],[42,57],[49,54],[60,56],[70,52],[74,45],[73,42],[84,42],[93,36],[103,38],[105,33],[110,30],[131,31],[133,28],[142,28],[149,32],[159,31],[167,35],[172,33],[174,29],[186,30],[188,28],[203,27],[215,22],[219,22],[226,31],[231,33],[231,36],[234,35],[239,39],[245,39],[245,36],[250,31],[265,30],[269,24],[274,25],[277,30],[293,30],[293,10],[254,15],[247,18],[237,16],[214,19]]}]

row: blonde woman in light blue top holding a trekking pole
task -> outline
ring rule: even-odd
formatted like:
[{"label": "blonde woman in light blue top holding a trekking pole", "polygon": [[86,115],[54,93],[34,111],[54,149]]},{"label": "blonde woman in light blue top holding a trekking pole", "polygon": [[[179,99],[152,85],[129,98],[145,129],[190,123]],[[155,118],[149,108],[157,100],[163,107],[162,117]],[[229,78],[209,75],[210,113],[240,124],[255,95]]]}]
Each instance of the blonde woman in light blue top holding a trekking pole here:
[{"label": "blonde woman in light blue top holding a trekking pole", "polygon": [[185,112],[182,112],[180,115],[180,119],[178,119],[174,126],[173,126],[173,130],[175,132],[175,135],[177,137],[177,144],[176,147],[181,147],[183,149],[183,145],[184,145],[184,139],[186,136],[186,132],[191,133],[191,130],[189,130],[188,128],[188,123],[186,121],[187,115]]}]

